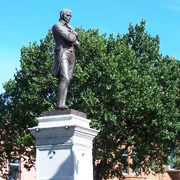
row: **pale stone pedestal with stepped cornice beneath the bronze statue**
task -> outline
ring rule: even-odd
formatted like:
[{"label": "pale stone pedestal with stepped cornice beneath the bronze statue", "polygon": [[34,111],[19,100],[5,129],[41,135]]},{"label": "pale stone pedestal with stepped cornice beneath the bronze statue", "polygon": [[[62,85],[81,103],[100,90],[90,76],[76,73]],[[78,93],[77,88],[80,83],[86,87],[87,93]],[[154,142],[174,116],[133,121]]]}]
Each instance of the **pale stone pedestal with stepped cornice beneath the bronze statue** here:
[{"label": "pale stone pedestal with stepped cornice beneath the bronze statue", "polygon": [[37,180],[93,180],[92,140],[98,131],[89,128],[86,114],[75,110],[43,113],[36,138]]}]

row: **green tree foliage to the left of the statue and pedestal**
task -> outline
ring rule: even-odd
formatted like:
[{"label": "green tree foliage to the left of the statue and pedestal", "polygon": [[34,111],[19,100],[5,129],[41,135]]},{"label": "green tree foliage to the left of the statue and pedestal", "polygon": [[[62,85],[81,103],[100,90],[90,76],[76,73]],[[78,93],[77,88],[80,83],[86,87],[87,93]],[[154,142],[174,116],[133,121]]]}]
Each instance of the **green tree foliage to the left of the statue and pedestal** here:
[{"label": "green tree foliage to the left of the statue and pedestal", "polygon": [[[22,47],[21,69],[14,80],[4,85],[0,107],[1,169],[14,157],[22,158],[27,169],[34,164],[34,138],[27,129],[37,125],[36,117],[52,109],[55,102],[57,80],[51,76],[53,49],[51,31],[40,45],[29,43],[29,47]],[[7,178],[7,173],[4,177]]]}]

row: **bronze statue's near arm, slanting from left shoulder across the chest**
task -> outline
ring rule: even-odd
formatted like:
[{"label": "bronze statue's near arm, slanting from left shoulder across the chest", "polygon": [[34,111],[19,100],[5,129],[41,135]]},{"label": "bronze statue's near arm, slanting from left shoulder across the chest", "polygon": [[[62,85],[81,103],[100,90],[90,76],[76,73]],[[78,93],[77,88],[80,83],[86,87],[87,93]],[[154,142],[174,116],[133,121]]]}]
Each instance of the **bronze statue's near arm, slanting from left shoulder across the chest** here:
[{"label": "bronze statue's near arm, slanting from left shoulder across the chest", "polygon": [[70,44],[73,44],[76,41],[76,34],[73,33],[73,31],[67,31],[66,29],[58,27],[56,25],[53,26],[53,31],[56,33],[56,35],[69,42]]}]

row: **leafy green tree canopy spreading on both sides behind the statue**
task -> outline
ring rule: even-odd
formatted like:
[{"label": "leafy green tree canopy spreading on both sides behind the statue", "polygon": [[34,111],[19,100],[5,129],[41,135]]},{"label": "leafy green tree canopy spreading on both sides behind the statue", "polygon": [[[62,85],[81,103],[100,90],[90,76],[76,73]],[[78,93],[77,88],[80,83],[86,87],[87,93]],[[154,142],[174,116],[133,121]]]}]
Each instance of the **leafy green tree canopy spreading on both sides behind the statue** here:
[{"label": "leafy green tree canopy spreading on both sides behind the statue", "polygon": [[[67,104],[87,113],[94,140],[95,180],[122,177],[123,154],[133,147],[132,168],[163,172],[168,155],[180,140],[180,62],[159,53],[159,37],[145,31],[145,21],[129,25],[116,37],[78,28],[81,48],[70,82]],[[54,42],[51,30],[21,49],[21,69],[5,83],[0,107],[0,164],[13,156],[34,162],[34,139],[27,128],[54,109],[58,80],[52,77]],[[176,151],[178,153],[179,151]],[[25,155],[25,156],[24,156]],[[178,154],[176,154],[178,157]]]}]

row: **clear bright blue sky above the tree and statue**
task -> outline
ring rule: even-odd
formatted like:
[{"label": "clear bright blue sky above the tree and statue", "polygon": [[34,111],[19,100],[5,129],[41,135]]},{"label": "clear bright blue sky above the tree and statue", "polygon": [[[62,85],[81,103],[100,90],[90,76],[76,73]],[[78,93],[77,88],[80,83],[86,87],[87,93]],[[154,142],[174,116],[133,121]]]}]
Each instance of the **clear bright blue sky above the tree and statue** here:
[{"label": "clear bright blue sky above the tree and statue", "polygon": [[62,8],[70,25],[121,35],[145,19],[146,31],[160,37],[160,53],[180,59],[180,0],[0,0],[0,93],[20,69],[20,49],[43,39]]}]

